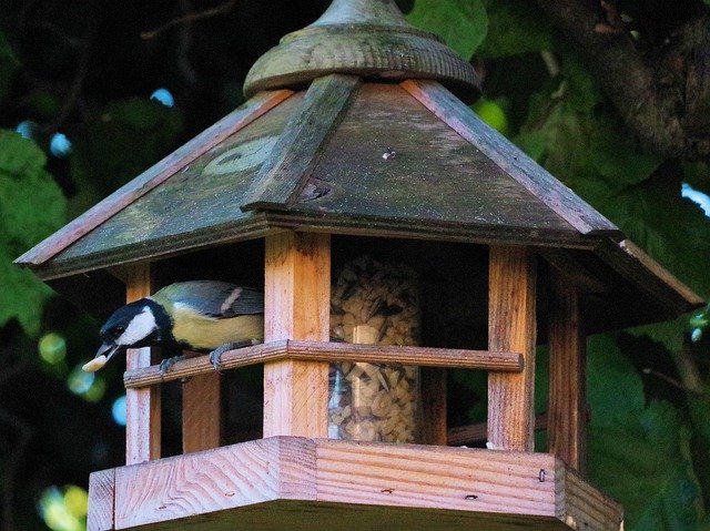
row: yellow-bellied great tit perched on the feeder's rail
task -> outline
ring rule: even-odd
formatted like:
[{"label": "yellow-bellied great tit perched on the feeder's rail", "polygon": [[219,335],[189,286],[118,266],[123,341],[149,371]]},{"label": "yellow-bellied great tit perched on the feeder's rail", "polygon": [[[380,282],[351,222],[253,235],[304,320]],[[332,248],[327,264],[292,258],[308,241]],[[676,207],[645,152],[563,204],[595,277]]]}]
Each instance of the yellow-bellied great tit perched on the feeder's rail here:
[{"label": "yellow-bellied great tit perched on the feeder's rail", "polygon": [[262,293],[226,282],[181,282],[115,310],[101,327],[103,344],[83,369],[93,372],[126,348],[152,346],[212,351],[216,368],[222,353],[263,339]]}]

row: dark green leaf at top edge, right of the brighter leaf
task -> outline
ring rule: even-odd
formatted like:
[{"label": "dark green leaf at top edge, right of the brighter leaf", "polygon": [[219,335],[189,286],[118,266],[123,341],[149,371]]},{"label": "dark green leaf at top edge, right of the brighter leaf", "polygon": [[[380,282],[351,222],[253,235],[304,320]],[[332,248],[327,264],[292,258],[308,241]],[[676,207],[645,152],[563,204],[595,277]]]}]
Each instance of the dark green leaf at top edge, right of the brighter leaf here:
[{"label": "dark green leaf at top edge, right of the brighter leaf", "polygon": [[496,59],[552,48],[552,24],[535,2],[527,0],[484,0],[488,32],[477,50]]}]

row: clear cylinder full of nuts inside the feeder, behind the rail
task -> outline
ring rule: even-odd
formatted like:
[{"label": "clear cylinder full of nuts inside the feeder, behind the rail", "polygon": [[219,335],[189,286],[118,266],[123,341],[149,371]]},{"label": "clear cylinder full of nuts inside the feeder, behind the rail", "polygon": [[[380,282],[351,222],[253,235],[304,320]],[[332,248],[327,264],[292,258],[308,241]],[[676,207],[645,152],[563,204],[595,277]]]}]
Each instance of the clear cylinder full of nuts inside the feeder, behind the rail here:
[{"label": "clear cylinder full of nuts inside the feeder, behind the rail", "polygon": [[[418,345],[419,289],[413,269],[363,256],[347,263],[332,289],[331,335],[347,343]],[[338,362],[331,366],[328,437],[413,442],[417,367]]]}]

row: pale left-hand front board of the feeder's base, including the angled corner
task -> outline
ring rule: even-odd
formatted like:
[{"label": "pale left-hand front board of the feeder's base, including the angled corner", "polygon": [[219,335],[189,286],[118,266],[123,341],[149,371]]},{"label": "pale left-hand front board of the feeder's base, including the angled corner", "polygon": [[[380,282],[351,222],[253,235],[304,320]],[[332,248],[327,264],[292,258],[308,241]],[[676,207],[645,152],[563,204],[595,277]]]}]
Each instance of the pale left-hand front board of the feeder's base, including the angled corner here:
[{"label": "pale left-hand front board of the feeder's base, including the angled corner", "polygon": [[125,529],[268,500],[315,499],[313,442],[260,439],[116,469],[115,525]]}]

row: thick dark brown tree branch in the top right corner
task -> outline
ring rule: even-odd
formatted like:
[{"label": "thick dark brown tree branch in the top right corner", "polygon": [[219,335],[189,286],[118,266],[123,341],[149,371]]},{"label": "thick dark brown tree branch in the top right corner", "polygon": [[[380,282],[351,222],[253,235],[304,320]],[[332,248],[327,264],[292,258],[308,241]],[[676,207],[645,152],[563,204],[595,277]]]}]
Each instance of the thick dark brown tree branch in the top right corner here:
[{"label": "thick dark brown tree branch in the top right corner", "polygon": [[707,12],[647,53],[606,1],[538,0],[575,41],[602,90],[649,150],[667,157],[710,155],[710,37]]}]

